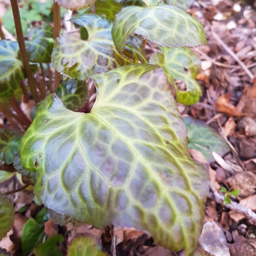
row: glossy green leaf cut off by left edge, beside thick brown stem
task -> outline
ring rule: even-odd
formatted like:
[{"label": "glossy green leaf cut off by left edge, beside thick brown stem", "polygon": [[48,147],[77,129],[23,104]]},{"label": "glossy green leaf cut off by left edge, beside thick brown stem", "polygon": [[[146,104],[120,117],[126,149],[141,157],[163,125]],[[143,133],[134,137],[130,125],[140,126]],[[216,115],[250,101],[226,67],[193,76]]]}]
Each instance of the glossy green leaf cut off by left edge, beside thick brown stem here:
[{"label": "glossy green leaf cut off by left edge, beside thick brown stem", "polygon": [[18,42],[0,40],[0,98],[12,96],[25,78],[25,69],[18,53]]}]

